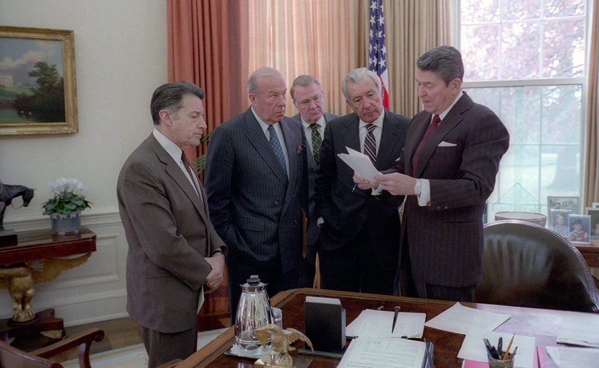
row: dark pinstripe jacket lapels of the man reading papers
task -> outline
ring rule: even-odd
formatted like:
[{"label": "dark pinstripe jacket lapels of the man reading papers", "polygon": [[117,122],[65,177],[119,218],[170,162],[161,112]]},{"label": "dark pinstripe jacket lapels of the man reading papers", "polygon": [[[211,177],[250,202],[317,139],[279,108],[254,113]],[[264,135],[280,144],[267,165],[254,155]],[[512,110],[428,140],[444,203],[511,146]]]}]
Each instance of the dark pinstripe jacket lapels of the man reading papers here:
[{"label": "dark pinstripe jacket lapels of the man reading papers", "polygon": [[[471,106],[472,100],[464,92],[464,96],[462,96],[458,100],[458,102],[456,102],[456,104],[453,105],[451,110],[449,110],[449,112],[447,113],[446,117],[444,117],[443,120],[441,120],[441,123],[437,127],[437,130],[435,130],[435,132],[432,133],[431,137],[422,146],[422,149],[420,149],[420,153],[418,154],[418,166],[416,166],[416,172],[414,173],[416,178],[419,178],[420,175],[422,175],[422,171],[424,171],[426,163],[428,163],[428,160],[431,159],[431,156],[434,153],[435,149],[437,149],[437,146],[441,143],[441,141],[443,141],[443,138],[447,135],[447,133],[449,133],[464,119],[462,112],[470,109]],[[428,120],[426,121],[430,123],[431,114],[427,114],[427,116]],[[424,126],[424,131],[426,131],[426,128],[428,128],[428,124],[422,125]],[[422,136],[420,136],[418,144],[420,144],[420,141],[422,141],[423,136],[424,133],[422,133]],[[418,144],[416,145],[416,147],[418,147]]]}]

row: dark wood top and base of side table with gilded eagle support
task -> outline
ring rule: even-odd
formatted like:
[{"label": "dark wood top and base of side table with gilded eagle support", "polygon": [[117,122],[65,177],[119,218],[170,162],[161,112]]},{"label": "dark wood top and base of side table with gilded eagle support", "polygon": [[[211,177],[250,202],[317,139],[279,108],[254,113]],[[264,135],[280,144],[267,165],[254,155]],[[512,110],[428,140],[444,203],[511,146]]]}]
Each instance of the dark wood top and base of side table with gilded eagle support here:
[{"label": "dark wood top and base of side table with gilded eagle support", "polygon": [[[77,254],[83,255],[78,258],[80,259],[78,263],[83,263],[89,254],[96,250],[96,234],[86,227],[81,227],[80,233],[71,235],[53,235],[52,230],[44,229],[19,232],[17,236],[16,244],[0,247],[0,264],[2,265],[0,270],[10,270],[16,267],[28,269],[29,266],[26,262],[48,261]],[[34,269],[31,271],[32,273],[42,272]],[[9,288],[11,281],[11,279],[8,281]],[[44,331],[48,337],[65,337],[62,318],[54,317],[52,308],[36,313],[32,321],[20,323],[13,321],[12,318],[0,320],[0,339],[2,340]],[[48,333],[48,331],[54,331],[54,333]]]}]

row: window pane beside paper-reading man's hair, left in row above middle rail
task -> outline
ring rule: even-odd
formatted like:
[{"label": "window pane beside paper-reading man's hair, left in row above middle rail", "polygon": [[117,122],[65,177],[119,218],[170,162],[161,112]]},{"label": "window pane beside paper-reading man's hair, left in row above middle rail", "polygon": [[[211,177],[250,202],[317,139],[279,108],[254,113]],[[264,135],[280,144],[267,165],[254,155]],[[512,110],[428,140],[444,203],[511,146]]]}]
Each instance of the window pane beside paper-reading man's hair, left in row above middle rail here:
[{"label": "window pane beside paper-reading man's hair, left in row above middle rail", "polygon": [[497,80],[499,26],[462,26],[464,80]]}]

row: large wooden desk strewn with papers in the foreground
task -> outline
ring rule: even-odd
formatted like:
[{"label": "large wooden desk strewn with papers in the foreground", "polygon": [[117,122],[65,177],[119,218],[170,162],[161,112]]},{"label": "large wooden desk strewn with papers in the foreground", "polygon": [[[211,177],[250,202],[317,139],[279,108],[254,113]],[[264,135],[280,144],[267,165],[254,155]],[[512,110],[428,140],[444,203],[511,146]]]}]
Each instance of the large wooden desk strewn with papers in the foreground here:
[{"label": "large wooden desk strewn with papers in the foreground", "polygon": [[[446,302],[443,300],[359,294],[309,288],[295,289],[283,291],[272,298],[273,306],[277,306],[283,310],[284,328],[294,327],[295,329],[304,331],[304,300],[307,295],[339,298],[341,300],[341,305],[346,309],[347,324],[358,317],[363,309],[376,309],[380,305],[384,306],[385,311],[392,311],[395,306],[399,305],[401,306],[402,312],[424,312],[426,313],[426,321],[428,321],[454,304],[454,302]],[[464,305],[485,311],[509,313],[512,315],[512,318],[498,327],[496,331],[534,336],[536,337],[536,345],[542,346],[543,348],[545,346],[562,345],[555,343],[562,318],[572,315],[586,315],[589,319],[594,318],[599,320],[599,315],[581,312],[553,311],[550,309],[518,308],[476,303],[464,303]],[[426,340],[432,341],[435,345],[435,367],[461,367],[462,360],[458,359],[457,355],[459,348],[462,346],[464,335],[425,327],[423,337],[425,337]],[[234,327],[231,327],[217,336],[216,339],[205,345],[202,349],[195,352],[195,354],[181,362],[177,368],[253,367],[254,360],[231,357],[223,354],[226,349],[229,349],[232,346],[234,340]],[[301,347],[301,343],[296,342],[294,346],[299,348]],[[555,367],[549,358],[549,355],[547,355],[547,352],[544,354],[545,367]],[[297,356],[297,351],[292,351],[291,355]],[[339,363],[339,360],[332,358],[313,357],[310,355],[301,355],[301,357],[312,359],[310,368],[333,368]]]}]

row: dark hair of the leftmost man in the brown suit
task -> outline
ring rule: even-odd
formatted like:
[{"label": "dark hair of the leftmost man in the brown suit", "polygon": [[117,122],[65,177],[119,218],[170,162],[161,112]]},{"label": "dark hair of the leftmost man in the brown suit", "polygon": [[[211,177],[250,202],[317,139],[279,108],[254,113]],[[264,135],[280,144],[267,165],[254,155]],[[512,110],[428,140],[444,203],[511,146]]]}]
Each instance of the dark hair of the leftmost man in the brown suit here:
[{"label": "dark hair of the leftmost man in the brown suit", "polygon": [[150,114],[152,114],[154,124],[160,124],[159,112],[163,109],[170,111],[171,114],[176,114],[181,108],[181,100],[184,95],[194,95],[200,99],[204,99],[206,96],[204,90],[187,81],[165,83],[158,87],[152,95],[152,102],[150,102]]}]

